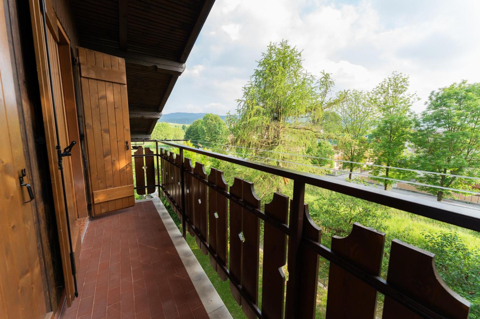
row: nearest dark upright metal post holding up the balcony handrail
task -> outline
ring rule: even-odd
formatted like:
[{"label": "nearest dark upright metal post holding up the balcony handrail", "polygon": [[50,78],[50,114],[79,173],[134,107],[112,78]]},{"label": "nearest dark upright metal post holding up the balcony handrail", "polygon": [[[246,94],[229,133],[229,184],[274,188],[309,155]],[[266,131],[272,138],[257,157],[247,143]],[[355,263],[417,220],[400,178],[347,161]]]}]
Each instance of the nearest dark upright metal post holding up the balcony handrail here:
[{"label": "nearest dark upright metal post holding up the balcony handrail", "polygon": [[293,198],[290,204],[290,218],[288,228],[290,228],[290,237],[288,238],[288,282],[287,299],[285,307],[285,318],[300,318],[300,285],[301,285],[301,267],[298,265],[300,259],[300,243],[303,236],[303,210],[305,197],[305,183],[299,180],[293,182]]}]

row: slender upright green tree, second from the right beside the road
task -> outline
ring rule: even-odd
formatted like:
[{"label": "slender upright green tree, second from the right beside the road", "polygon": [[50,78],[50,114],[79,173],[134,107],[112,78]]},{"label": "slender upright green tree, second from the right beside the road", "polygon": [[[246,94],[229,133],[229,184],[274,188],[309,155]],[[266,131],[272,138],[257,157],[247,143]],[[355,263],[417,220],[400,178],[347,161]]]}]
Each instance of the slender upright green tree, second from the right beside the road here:
[{"label": "slender upright green tree, second from the right beside the road", "polygon": [[[389,166],[399,166],[407,157],[407,139],[412,128],[410,107],[416,100],[415,94],[408,93],[408,85],[408,76],[393,72],[372,91],[371,101],[380,116],[372,132],[372,157],[374,164],[386,166],[374,167],[373,175],[395,179],[406,177],[406,171],[390,171]],[[393,183],[379,180],[385,190]]]}]

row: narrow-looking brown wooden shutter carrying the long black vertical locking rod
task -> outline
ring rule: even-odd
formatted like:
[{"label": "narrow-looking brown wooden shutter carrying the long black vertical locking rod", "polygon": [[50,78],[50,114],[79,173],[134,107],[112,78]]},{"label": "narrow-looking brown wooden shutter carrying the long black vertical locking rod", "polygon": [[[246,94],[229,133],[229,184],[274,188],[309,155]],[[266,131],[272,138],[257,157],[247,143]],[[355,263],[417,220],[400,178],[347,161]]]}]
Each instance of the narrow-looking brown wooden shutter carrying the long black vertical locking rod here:
[{"label": "narrow-looking brown wooden shutter carrying the long black vertical locking rod", "polygon": [[[59,233],[65,295],[67,298],[67,305],[70,307],[73,299],[75,298],[75,289],[73,274],[74,269],[72,269],[70,259],[71,251],[69,240],[72,240],[72,252],[75,257],[75,262],[78,266],[81,236],[79,236],[78,227],[75,226],[75,220],[78,216],[78,213],[73,182],[72,156],[63,157],[62,166],[64,185],[62,185],[63,183],[58,165],[59,156],[56,148],[57,146],[60,146],[60,149],[63,150],[73,140],[73,138],[69,136],[68,132],[64,87],[61,73],[61,53],[59,51],[60,42],[64,42],[67,39],[61,33],[59,33],[59,22],[56,18],[55,12],[53,11],[50,1],[46,1],[46,20],[48,27],[47,39],[44,36],[40,2],[30,0],[29,4],[35,46],[36,72],[38,74],[40,100],[42,101],[41,106],[43,125],[45,128],[46,147],[48,152],[48,169],[50,171],[53,200],[55,205],[55,216]],[[46,46],[47,41],[48,47]],[[49,54],[49,61],[47,50]],[[50,63],[50,67],[48,66],[48,62]],[[49,79],[49,72],[51,73],[52,77],[51,82]],[[51,94],[50,86],[53,89],[53,96]],[[53,105],[53,98],[55,99],[55,109]],[[78,148],[78,146],[75,146],[75,148]],[[63,188],[63,186],[65,188]],[[65,202],[68,210],[68,222]],[[68,225],[70,225],[70,233],[73,236],[72,239],[69,239]]]}]

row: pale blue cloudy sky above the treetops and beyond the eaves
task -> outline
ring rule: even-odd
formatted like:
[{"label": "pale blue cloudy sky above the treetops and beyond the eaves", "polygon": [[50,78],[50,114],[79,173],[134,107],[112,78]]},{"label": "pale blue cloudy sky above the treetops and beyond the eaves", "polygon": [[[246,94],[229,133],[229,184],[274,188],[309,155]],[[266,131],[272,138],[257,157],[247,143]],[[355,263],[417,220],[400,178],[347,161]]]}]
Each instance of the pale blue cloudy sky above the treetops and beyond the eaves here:
[{"label": "pale blue cloudy sky above the treetops and beyond the eaves", "polygon": [[420,112],[432,90],[480,82],[479,17],[480,0],[216,0],[163,113],[233,113],[256,61],[282,39],[337,91],[409,75]]}]

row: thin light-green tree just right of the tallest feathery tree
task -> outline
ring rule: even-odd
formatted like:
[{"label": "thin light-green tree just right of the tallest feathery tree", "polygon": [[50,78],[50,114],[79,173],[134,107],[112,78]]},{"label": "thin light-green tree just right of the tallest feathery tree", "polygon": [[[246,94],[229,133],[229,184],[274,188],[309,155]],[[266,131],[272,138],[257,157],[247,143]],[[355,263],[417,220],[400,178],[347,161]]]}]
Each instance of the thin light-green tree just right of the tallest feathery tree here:
[{"label": "thin light-green tree just right of the tallest feathery tree", "polygon": [[[342,159],[361,162],[366,158],[369,148],[367,135],[375,123],[375,107],[370,103],[368,94],[362,91],[350,91],[347,98],[338,104],[339,115],[337,125],[340,127],[337,148]],[[350,170],[348,179],[352,179],[352,171],[358,164],[345,163]]]}]

